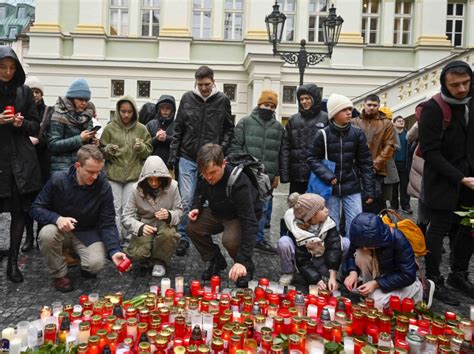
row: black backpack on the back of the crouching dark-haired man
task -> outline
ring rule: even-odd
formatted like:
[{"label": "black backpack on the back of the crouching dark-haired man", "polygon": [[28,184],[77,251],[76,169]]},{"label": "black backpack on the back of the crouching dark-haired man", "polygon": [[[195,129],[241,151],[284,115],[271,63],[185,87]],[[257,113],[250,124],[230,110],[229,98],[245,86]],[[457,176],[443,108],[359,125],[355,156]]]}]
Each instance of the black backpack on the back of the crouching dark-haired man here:
[{"label": "black backpack on the back of the crouching dark-haired man", "polygon": [[265,172],[265,166],[260,160],[247,153],[231,153],[226,157],[230,166],[234,166],[227,180],[226,195],[231,199],[232,186],[240,174],[244,172],[252,185],[258,191],[258,200],[264,202],[272,195],[270,177]]}]

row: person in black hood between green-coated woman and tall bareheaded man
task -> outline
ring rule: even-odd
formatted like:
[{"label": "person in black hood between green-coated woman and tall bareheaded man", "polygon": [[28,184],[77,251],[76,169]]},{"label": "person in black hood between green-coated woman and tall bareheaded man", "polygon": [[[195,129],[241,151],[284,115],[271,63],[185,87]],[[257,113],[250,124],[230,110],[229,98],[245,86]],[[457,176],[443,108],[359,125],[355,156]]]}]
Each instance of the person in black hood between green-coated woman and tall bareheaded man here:
[{"label": "person in black hood between green-coated woman and tall bareheaded man", "polygon": [[170,157],[175,113],[176,103],[174,97],[162,95],[156,103],[154,118],[146,124],[146,128],[151,135],[152,155],[161,157],[163,161],[168,161]]}]

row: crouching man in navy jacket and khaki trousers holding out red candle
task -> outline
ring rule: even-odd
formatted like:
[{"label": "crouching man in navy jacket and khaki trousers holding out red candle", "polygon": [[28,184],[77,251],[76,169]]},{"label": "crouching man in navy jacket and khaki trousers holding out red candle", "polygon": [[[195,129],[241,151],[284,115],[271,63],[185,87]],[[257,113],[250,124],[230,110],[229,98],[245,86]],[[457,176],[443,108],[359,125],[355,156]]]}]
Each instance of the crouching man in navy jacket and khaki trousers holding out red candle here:
[{"label": "crouching man in navy jacket and khaki trousers holding out red candle", "polygon": [[31,207],[31,216],[46,225],[39,244],[46,257],[54,287],[73,290],[62,253],[71,243],[81,259],[81,274],[95,278],[107,256],[119,265],[122,253],[110,184],[102,172],[104,157],[95,145],[84,145],[69,171],[53,174]]}]

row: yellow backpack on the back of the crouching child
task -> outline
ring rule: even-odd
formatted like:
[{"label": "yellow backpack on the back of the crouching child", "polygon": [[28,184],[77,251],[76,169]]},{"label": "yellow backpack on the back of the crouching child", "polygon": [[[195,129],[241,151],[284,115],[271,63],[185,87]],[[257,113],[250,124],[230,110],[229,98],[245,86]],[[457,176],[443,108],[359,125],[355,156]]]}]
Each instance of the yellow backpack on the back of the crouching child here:
[{"label": "yellow backpack on the back of the crouching child", "polygon": [[405,235],[416,257],[426,255],[425,236],[412,220],[404,219],[393,209],[384,209],[379,213],[379,216],[385,224],[400,230]]}]

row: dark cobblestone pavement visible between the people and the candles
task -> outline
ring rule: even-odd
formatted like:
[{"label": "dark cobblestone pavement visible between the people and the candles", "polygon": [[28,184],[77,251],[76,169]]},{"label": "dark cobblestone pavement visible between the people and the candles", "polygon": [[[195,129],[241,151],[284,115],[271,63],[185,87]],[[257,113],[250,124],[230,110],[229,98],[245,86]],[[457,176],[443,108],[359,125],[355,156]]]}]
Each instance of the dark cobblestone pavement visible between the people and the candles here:
[{"label": "dark cobblestone pavement visible between the people and the candles", "polygon": [[[286,209],[286,196],[288,194],[288,186],[283,185],[278,188],[274,195],[274,207],[272,225],[269,233],[269,241],[276,245],[279,238],[279,218]],[[412,200],[412,206],[415,210],[416,203]],[[4,249],[8,246],[8,230],[9,216],[8,214],[0,214],[0,248]],[[268,230],[267,230],[268,231]],[[446,247],[449,247],[446,245]],[[449,271],[448,253],[445,252],[442,269],[445,276]],[[230,263],[229,257],[228,263]],[[46,262],[40,252],[34,251],[21,255],[21,269],[25,276],[25,281],[20,284],[13,284],[5,279],[6,259],[0,262],[0,330],[7,326],[16,325],[22,320],[33,320],[39,315],[41,305],[50,305],[53,301],[62,301],[63,303],[78,303],[81,294],[97,292],[100,295],[115,291],[123,291],[125,298],[131,298],[135,295],[146,292],[151,284],[159,283],[159,278],[153,278],[149,273],[133,268],[130,272],[120,275],[112,262],[108,262],[104,271],[102,271],[95,280],[84,280],[80,276],[79,268],[70,268],[69,275],[74,279],[75,291],[63,294],[51,286],[51,279],[48,275]],[[269,278],[272,281],[278,281],[280,276],[280,264],[277,256],[266,255],[256,252],[254,255],[256,266],[256,274],[254,278]],[[474,262],[471,262],[471,273]],[[167,277],[173,279],[175,276],[183,275],[185,282],[192,279],[199,279],[205,264],[201,261],[196,249],[191,246],[186,257],[173,257],[172,266],[167,271]],[[229,269],[229,268],[228,268]],[[227,270],[228,270],[227,269]],[[307,291],[300,277],[295,278],[297,289]],[[223,287],[233,287],[233,283],[228,281],[226,275],[223,274]],[[469,315],[469,305],[473,304],[472,299],[454,292],[456,297],[461,301],[459,307],[449,307],[434,300],[432,309],[438,312],[446,310],[456,311],[463,316]]]}]

